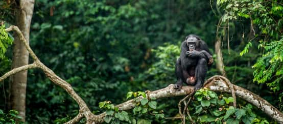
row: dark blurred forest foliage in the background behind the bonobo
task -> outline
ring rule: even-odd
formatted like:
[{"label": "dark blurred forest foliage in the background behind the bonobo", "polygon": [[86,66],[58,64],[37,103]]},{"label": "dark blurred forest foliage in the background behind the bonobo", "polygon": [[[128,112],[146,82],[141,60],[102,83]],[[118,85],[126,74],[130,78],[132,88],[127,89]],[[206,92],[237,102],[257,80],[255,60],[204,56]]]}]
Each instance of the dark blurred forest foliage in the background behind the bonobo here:
[{"label": "dark blurred forest foliage in the background behind the bonobo", "polygon": [[[15,2],[10,2],[0,2],[0,19],[7,24],[14,23]],[[188,34],[200,36],[214,52],[217,24],[224,13],[216,1],[37,0],[30,44],[46,66],[72,84],[94,113],[100,113],[101,101],[119,104],[126,101],[128,91],[156,90],[175,83],[175,61]],[[227,39],[222,44],[226,76],[281,109],[278,98],[270,97],[280,91],[253,83],[251,66],[262,54],[258,43],[239,55],[247,44],[243,35],[251,34],[249,20],[229,25],[230,53]],[[0,62],[0,75],[10,69],[11,49],[6,56]],[[214,63],[207,77],[219,74]],[[8,80],[1,84],[0,109],[5,110]],[[166,110],[166,117],[176,116],[179,100],[158,100],[158,109]],[[62,88],[41,71],[29,70],[28,122],[52,123],[77,112],[78,105]]]}]

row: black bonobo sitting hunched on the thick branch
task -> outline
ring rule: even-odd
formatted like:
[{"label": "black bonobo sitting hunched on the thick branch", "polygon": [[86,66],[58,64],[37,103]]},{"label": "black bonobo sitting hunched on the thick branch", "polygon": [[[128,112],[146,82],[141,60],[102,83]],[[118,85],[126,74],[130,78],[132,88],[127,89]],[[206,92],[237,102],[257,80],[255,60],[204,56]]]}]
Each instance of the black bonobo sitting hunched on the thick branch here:
[{"label": "black bonobo sitting hunched on the thick branch", "polygon": [[197,35],[188,35],[181,44],[180,57],[176,61],[175,73],[177,83],[175,89],[180,89],[183,82],[195,85],[195,89],[203,86],[208,66],[213,63],[213,57],[207,44]]}]

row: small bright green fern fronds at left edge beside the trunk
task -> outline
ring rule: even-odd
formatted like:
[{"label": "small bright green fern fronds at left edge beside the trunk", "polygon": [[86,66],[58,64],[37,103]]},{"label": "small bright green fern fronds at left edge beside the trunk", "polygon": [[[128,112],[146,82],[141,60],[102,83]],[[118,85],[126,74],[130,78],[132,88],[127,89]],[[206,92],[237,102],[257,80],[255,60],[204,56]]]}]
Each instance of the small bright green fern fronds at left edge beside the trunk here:
[{"label": "small bright green fern fronds at left edge beside the trunk", "polygon": [[5,58],[5,53],[9,45],[13,43],[13,40],[8,36],[5,31],[5,24],[0,24],[0,59]]}]

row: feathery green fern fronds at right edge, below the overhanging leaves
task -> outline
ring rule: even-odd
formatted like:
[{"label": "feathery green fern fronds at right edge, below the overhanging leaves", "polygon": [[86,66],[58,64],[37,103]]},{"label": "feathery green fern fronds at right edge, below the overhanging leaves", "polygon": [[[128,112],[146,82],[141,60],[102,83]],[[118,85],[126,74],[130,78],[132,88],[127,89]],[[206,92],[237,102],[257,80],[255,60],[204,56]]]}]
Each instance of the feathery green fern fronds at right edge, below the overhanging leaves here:
[{"label": "feathery green fern fronds at right edge, below the overhanging leaves", "polygon": [[283,80],[283,37],[279,41],[266,43],[266,53],[253,65],[254,82],[267,83],[273,91],[280,89]]}]

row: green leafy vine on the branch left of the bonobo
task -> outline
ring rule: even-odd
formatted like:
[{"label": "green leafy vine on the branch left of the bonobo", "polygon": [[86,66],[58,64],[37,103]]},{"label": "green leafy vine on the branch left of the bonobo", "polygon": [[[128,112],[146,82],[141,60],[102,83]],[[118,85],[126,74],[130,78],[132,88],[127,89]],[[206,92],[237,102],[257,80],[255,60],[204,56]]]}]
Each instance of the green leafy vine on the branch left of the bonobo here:
[{"label": "green leafy vine on the branch left of the bonobo", "polygon": [[133,114],[129,114],[131,111],[121,111],[116,108],[110,101],[104,101],[99,103],[100,108],[106,109],[106,116],[104,121],[106,123],[151,123],[152,120],[144,118],[145,114],[151,113],[155,115],[155,118],[164,118],[162,111],[157,112],[157,102],[155,98],[148,99],[145,92],[128,92],[127,98],[134,96],[135,107],[132,110]]}]

